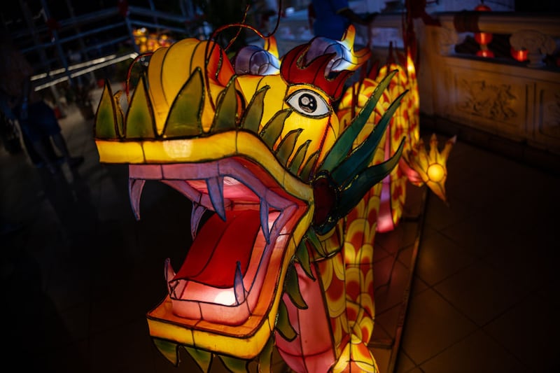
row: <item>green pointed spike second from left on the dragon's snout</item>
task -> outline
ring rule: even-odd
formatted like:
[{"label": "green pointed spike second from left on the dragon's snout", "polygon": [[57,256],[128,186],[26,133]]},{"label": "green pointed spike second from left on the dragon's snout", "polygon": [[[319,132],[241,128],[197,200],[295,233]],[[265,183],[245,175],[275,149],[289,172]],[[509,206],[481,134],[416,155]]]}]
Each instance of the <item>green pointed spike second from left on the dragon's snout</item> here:
[{"label": "green pointed spike second from left on the dragon's snout", "polygon": [[154,123],[150,100],[146,95],[146,79],[141,76],[130,100],[125,136],[127,139],[155,139]]}]

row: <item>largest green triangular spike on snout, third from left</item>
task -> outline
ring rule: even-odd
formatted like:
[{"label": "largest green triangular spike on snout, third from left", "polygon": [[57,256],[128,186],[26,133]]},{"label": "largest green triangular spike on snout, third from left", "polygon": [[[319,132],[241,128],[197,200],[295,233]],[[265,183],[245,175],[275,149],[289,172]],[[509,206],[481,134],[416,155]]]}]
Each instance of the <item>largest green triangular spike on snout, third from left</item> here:
[{"label": "largest green triangular spike on snout, third from left", "polygon": [[204,103],[204,84],[200,67],[190,75],[171,108],[163,136],[197,136],[202,134],[202,104]]}]

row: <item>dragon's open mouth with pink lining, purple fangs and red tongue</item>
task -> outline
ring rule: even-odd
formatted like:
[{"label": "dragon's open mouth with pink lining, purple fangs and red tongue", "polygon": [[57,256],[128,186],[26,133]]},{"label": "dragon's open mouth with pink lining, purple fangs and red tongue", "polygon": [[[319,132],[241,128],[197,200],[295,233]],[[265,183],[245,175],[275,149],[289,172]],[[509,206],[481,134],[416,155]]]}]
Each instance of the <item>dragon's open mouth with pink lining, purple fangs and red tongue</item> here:
[{"label": "dragon's open mouth with pink lining, purple fangs and red tongue", "polygon": [[[287,248],[295,246],[293,231],[309,211],[309,201],[291,195],[257,162],[239,156],[196,164],[130,164],[129,177],[137,217],[146,180],[160,180],[193,202],[193,245],[177,272],[165,262],[174,321],[193,329],[204,325],[206,331],[215,325],[222,335],[228,332],[224,325],[246,325],[251,319],[260,325],[281,293],[286,255],[293,255]],[[199,227],[207,210],[215,213]]]}]

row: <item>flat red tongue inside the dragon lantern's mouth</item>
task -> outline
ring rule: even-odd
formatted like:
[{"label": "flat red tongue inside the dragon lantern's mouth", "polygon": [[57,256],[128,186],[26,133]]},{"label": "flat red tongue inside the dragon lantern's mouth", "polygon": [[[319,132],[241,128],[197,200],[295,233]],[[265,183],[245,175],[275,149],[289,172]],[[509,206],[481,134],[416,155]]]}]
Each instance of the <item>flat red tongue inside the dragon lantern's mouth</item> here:
[{"label": "flat red tongue inside the dragon lantern's mouth", "polygon": [[226,216],[223,221],[215,214],[202,226],[174,281],[192,280],[215,288],[234,286],[236,269],[244,273],[251,258],[260,230],[260,213],[227,211]]}]

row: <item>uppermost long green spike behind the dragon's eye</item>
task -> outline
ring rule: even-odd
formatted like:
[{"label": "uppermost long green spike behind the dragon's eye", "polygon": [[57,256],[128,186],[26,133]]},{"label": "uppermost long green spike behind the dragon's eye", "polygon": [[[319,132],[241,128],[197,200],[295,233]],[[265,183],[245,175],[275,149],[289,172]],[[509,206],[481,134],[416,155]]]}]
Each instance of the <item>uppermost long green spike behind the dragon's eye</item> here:
[{"label": "uppermost long green spike behind the dragon's eye", "polygon": [[379,97],[381,97],[381,94],[383,94],[384,90],[391,82],[391,79],[393,78],[393,76],[395,76],[395,73],[397,73],[397,70],[391,71],[391,73],[383,78],[379,85],[375,87],[373,94],[367,100],[360,113],[358,113],[358,115],[352,120],[350,125],[346,127],[346,129],[344,129],[344,132],[342,132],[335,144],[332,146],[332,148],[330,148],[328,154],[325,157],[325,160],[323,160],[323,164],[321,164],[321,168],[319,169],[319,171],[332,171],[332,169],[334,169],[337,164],[339,164],[339,162],[343,160],[346,155],[348,155],[348,152],[352,148],[353,141],[363,129],[363,126],[367,122],[367,119],[370,118],[370,114],[377,105]]}]

